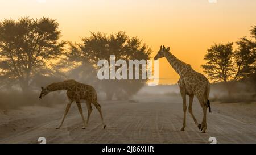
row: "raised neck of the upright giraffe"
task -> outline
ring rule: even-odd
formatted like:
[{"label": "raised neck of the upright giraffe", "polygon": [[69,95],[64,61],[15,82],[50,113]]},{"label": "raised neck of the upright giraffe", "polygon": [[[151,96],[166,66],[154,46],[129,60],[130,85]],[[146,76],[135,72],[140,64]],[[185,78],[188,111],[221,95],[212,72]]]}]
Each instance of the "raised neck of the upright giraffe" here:
[{"label": "raised neck of the upright giraffe", "polygon": [[176,58],[172,53],[166,52],[164,53],[167,61],[170,63],[172,68],[174,68],[175,72],[177,72],[180,76],[184,75],[184,69],[188,66],[185,62]]}]

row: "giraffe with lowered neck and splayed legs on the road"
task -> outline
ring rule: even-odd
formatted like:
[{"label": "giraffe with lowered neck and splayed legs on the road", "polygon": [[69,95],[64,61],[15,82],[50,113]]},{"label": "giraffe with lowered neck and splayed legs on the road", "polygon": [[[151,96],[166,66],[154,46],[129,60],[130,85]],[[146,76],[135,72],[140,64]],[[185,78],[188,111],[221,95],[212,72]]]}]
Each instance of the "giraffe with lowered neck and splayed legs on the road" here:
[{"label": "giraffe with lowered neck and splayed legs on the road", "polygon": [[[68,110],[74,101],[77,104],[77,107],[82,117],[82,121],[84,123],[84,126],[82,127],[82,129],[85,129],[86,126],[88,125],[90,114],[92,113],[92,104],[98,109],[98,112],[100,112],[102,124],[104,128],[106,127],[103,121],[101,106],[100,104],[98,104],[98,101],[97,101],[96,90],[92,86],[76,82],[75,80],[67,80],[63,82],[52,83],[51,85],[48,85],[46,88],[44,87],[41,87],[41,88],[42,88],[42,91],[39,96],[39,99],[42,99],[44,96],[46,96],[48,93],[52,91],[67,90],[67,97],[69,99],[69,103],[67,104],[67,107],[64,111],[61,122],[56,129],[59,129],[62,126],[64,119],[68,113]],[[87,117],[86,123],[85,123],[84,115],[82,114],[82,107],[81,107],[80,100],[86,100],[86,106],[88,109],[88,117]]]}]

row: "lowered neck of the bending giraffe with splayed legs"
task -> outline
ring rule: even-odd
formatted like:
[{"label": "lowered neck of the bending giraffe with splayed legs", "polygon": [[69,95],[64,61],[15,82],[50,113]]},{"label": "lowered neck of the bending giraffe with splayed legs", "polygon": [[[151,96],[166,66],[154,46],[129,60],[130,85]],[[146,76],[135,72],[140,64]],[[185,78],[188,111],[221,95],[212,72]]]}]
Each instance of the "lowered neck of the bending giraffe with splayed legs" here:
[{"label": "lowered neck of the bending giraffe with splayed legs", "polygon": [[74,81],[63,81],[63,82],[52,83],[51,85],[47,86],[47,89],[49,91],[70,90],[75,85],[76,85],[76,82]]}]

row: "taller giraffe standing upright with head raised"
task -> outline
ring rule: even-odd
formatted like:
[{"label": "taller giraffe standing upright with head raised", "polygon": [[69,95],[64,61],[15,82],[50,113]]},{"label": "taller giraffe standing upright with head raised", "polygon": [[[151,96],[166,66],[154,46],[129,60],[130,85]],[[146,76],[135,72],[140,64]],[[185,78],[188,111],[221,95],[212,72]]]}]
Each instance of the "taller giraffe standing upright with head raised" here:
[{"label": "taller giraffe standing upright with head raised", "polygon": [[[171,64],[172,68],[174,68],[174,70],[180,76],[178,84],[180,87],[180,94],[183,99],[183,112],[184,112],[183,126],[181,128],[181,131],[184,131],[184,128],[186,126],[186,110],[187,110],[186,95],[188,95],[189,96],[188,112],[191,114],[195,124],[201,130],[201,132],[205,133],[205,130],[207,129],[207,117],[206,117],[207,108],[209,107],[209,112],[212,112],[210,109],[210,101],[208,100],[209,93],[210,93],[210,82],[203,74],[193,70],[191,68],[191,65],[185,64],[185,62],[177,59],[174,55],[172,55],[172,53],[170,52],[170,47],[166,49],[166,47],[161,46],[154,60],[157,60],[162,57],[166,57],[168,62]],[[204,116],[201,124],[197,123],[196,118],[192,112],[192,103],[193,103],[194,96],[196,96],[197,99],[199,99],[199,103],[203,108]]]}]

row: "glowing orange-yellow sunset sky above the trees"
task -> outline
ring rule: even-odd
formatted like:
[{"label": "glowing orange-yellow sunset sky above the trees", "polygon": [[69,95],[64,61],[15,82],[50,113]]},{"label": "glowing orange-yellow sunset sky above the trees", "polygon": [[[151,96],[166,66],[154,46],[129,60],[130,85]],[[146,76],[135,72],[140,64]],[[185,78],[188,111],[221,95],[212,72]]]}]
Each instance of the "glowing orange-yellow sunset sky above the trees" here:
[{"label": "glowing orange-yellow sunset sky above the trees", "polygon": [[[213,1],[213,0],[212,0]],[[256,25],[255,0],[0,0],[0,19],[21,16],[57,19],[62,39],[80,42],[92,32],[126,31],[151,46],[160,45],[202,73],[204,55],[214,43],[250,35]],[[160,60],[160,83],[177,83],[165,58]]]}]

